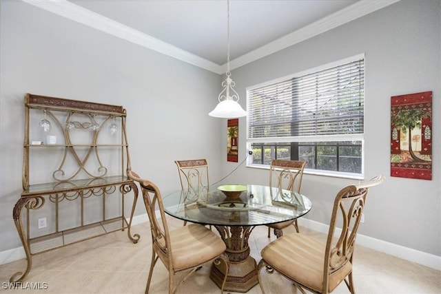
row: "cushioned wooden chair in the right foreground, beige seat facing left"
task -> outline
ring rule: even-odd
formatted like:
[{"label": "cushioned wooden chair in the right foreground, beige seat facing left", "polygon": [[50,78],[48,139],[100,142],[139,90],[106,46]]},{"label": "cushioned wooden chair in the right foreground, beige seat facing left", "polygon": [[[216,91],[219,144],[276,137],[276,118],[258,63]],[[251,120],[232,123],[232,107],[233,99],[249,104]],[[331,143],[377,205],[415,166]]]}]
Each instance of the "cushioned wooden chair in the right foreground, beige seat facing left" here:
[{"label": "cushioned wooden chair in the right foreground, beige seat facing left", "polygon": [[267,273],[277,271],[302,293],[331,293],[342,281],[355,293],[352,266],[357,230],[369,188],[383,180],[383,176],[377,176],[338,192],[326,242],[302,233],[289,233],[265,246],[258,264],[262,292],[265,293],[260,270],[265,266]]}]

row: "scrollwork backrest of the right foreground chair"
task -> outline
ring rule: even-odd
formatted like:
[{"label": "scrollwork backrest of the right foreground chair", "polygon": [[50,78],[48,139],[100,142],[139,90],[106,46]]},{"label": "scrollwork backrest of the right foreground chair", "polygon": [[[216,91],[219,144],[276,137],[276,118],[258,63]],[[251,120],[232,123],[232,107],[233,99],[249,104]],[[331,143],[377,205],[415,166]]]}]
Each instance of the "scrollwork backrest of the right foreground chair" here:
[{"label": "scrollwork backrest of the right foreground chair", "polygon": [[338,192],[334,200],[325,249],[324,289],[327,289],[329,275],[341,269],[347,262],[352,263],[367,192],[383,180],[384,176],[376,176],[369,182],[347,186]]}]

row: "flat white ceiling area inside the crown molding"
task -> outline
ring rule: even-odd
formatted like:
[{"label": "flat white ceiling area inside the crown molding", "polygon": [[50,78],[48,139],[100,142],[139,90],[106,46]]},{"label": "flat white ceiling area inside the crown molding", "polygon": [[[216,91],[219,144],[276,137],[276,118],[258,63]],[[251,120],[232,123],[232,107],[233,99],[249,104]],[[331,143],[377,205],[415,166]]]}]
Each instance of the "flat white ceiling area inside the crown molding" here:
[{"label": "flat white ceiling area inside the crown molding", "polygon": [[[71,0],[204,59],[227,60],[227,1]],[[231,58],[259,48],[356,1],[230,1]]]}]

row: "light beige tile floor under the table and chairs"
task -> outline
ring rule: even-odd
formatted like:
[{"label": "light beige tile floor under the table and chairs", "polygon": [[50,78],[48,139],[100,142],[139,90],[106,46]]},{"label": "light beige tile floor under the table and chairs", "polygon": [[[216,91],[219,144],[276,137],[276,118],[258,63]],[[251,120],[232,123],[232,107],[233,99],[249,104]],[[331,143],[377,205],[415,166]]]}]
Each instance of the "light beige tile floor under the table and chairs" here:
[{"label": "light beige tile floor under the table and chairs", "polygon": [[[182,221],[170,218],[170,227],[179,227]],[[300,228],[302,233],[325,239],[325,234]],[[216,229],[213,228],[213,231]],[[287,233],[294,227],[285,229]],[[32,258],[32,270],[21,288],[8,288],[10,277],[25,269],[25,260],[0,266],[1,293],[144,293],[150,269],[150,227],[148,223],[132,227],[141,240],[132,244],[127,231],[117,231],[61,249],[48,251]],[[260,250],[271,239],[267,227],[256,227],[249,238],[251,255],[258,262]],[[441,293],[441,271],[408,262],[391,255],[357,246],[354,256],[354,282],[356,293]],[[263,286],[266,293],[297,293],[292,284],[278,274],[267,275]],[[209,265],[196,271],[181,286],[178,293],[219,293],[209,280]],[[154,269],[150,293],[168,293],[168,273],[158,262]],[[30,287],[39,286],[32,290]],[[45,289],[42,289],[45,288]],[[248,293],[262,293],[254,286]],[[333,293],[349,293],[345,283]]]}]

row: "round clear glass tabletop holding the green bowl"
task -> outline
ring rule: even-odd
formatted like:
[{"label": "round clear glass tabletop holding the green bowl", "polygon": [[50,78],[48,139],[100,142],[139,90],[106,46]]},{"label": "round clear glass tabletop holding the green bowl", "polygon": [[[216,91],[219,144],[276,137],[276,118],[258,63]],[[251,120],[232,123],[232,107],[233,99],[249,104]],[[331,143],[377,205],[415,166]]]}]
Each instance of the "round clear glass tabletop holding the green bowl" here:
[{"label": "round clear glass tabletop holding the green bowl", "polygon": [[300,193],[245,185],[238,198],[227,198],[218,186],[179,190],[163,197],[165,213],[181,220],[219,226],[256,226],[294,220],[311,209]]}]

